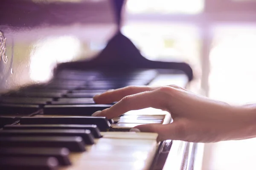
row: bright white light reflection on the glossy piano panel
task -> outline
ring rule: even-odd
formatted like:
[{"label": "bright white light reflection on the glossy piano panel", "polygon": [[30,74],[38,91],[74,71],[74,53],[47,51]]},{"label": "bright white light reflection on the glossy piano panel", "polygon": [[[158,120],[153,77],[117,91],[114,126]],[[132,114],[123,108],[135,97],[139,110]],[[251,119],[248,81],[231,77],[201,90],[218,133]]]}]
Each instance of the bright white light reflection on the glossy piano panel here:
[{"label": "bright white light reflection on the glossy piano panel", "polygon": [[48,81],[56,64],[72,61],[79,51],[80,42],[72,36],[47,37],[37,42],[30,54],[30,78],[36,82]]}]

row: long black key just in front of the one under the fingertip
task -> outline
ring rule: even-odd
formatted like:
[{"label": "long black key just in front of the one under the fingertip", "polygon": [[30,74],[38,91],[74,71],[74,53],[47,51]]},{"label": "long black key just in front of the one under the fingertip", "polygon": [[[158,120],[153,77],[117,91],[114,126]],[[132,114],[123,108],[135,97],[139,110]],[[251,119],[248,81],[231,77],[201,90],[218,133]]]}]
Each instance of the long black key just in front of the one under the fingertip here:
[{"label": "long black key just in front of the one under the fingertip", "polygon": [[21,125],[40,125],[40,124],[73,124],[73,125],[97,125],[99,130],[106,131],[110,128],[110,123],[105,117],[92,116],[66,116],[66,117],[22,117]]}]

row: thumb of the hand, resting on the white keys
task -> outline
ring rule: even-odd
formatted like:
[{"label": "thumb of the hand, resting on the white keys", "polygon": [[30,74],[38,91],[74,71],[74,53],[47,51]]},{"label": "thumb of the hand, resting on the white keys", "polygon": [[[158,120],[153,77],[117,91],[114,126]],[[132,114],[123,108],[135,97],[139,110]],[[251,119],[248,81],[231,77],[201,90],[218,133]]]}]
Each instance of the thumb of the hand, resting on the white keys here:
[{"label": "thumb of the hand, resting on the white keys", "polygon": [[178,124],[173,122],[171,124],[162,125],[162,124],[147,124],[147,125],[138,125],[134,127],[139,129],[141,132],[152,132],[157,133],[157,142],[164,140],[179,140],[179,131]]}]

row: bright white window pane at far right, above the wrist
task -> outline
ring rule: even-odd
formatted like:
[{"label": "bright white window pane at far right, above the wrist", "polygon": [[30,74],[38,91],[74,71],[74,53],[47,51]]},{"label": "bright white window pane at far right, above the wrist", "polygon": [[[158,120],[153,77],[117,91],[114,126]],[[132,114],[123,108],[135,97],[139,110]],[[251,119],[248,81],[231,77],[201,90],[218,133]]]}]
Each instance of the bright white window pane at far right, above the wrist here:
[{"label": "bright white window pane at far right, above the wrist", "polygon": [[213,32],[209,96],[234,104],[256,102],[256,25],[220,25]]}]

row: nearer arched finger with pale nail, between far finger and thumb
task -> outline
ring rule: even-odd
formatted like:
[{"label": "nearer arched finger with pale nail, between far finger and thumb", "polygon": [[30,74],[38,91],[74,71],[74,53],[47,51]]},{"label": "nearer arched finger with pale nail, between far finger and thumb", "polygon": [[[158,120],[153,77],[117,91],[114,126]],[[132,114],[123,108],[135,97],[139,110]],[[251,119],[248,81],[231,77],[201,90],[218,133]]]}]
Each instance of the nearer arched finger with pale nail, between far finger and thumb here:
[{"label": "nearer arched finger with pale nail, between far finger and thumb", "polygon": [[171,101],[169,94],[172,92],[172,89],[171,87],[162,87],[154,91],[125,96],[110,108],[93,113],[92,116],[105,116],[108,119],[112,119],[128,111],[143,108],[168,110],[168,105]]}]

